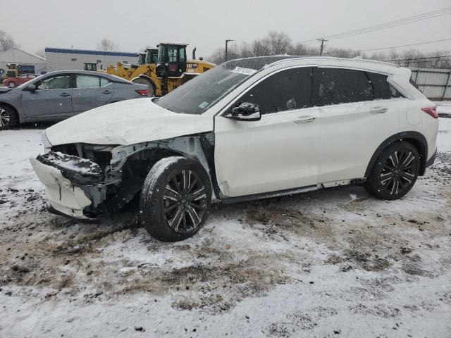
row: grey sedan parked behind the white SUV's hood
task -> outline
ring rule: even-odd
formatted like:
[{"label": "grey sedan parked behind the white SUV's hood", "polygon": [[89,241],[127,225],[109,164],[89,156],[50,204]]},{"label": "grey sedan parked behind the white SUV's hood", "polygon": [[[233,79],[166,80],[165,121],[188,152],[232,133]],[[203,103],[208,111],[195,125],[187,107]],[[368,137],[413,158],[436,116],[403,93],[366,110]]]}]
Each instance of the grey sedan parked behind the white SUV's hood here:
[{"label": "grey sedan parked behind the white SUV's hood", "polygon": [[0,130],[25,122],[63,120],[105,104],[148,95],[146,84],[106,73],[51,72],[16,88],[0,88]]}]

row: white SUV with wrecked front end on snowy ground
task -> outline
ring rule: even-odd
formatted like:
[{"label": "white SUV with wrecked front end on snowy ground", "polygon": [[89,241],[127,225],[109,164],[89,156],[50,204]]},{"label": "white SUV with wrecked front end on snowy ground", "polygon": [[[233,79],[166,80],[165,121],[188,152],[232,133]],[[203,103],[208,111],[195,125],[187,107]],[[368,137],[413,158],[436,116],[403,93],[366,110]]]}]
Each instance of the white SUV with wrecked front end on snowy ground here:
[{"label": "white SUV with wrecked front end on snowy ground", "polygon": [[49,127],[31,163],[54,213],[92,220],[140,193],[142,224],[163,241],[196,233],[212,202],[347,184],[399,199],[433,163],[438,130],[410,77],[359,59],[228,61]]}]

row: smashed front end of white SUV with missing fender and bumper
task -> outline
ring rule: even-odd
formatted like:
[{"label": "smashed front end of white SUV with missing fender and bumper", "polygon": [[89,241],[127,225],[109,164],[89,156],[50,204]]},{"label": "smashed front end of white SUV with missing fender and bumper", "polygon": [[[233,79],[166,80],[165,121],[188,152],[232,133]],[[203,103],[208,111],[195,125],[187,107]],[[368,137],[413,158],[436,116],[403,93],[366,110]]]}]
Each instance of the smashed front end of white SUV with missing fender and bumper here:
[{"label": "smashed front end of white SUV with missing fender and bumper", "polygon": [[175,154],[197,158],[210,172],[204,149],[214,144],[212,133],[130,146],[45,144],[46,154],[30,158],[46,187],[49,211],[96,220],[133,199],[154,163]]}]

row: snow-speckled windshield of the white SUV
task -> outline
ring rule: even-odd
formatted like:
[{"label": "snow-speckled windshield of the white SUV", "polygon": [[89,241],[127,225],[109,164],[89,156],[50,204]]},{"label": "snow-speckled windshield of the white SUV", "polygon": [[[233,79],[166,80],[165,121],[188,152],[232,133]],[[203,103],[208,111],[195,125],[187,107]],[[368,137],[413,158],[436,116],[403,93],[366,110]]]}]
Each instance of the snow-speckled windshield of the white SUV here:
[{"label": "snow-speckled windshield of the white SUV", "polygon": [[256,72],[251,68],[217,65],[161,97],[156,104],[175,113],[202,114],[224,94]]}]

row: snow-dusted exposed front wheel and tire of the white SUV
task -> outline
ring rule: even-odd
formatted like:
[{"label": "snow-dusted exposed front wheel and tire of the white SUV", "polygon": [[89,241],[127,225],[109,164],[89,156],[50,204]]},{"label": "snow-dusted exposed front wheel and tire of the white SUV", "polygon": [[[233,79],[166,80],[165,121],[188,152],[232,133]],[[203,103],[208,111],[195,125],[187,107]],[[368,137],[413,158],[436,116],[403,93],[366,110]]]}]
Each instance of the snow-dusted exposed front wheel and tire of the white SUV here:
[{"label": "snow-dusted exposed front wheel and tire of the white SUV", "polygon": [[144,182],[141,223],[156,239],[181,241],[204,225],[210,201],[209,176],[200,163],[182,156],[163,158]]}]

